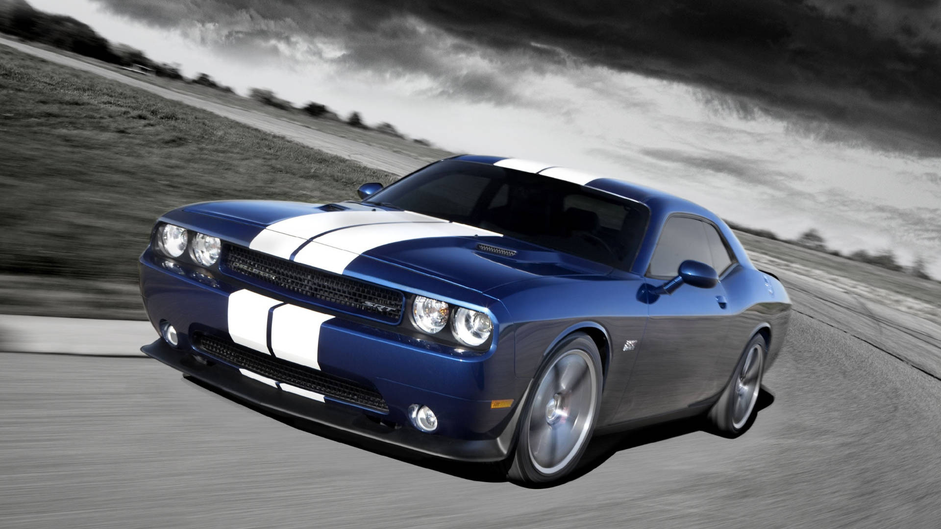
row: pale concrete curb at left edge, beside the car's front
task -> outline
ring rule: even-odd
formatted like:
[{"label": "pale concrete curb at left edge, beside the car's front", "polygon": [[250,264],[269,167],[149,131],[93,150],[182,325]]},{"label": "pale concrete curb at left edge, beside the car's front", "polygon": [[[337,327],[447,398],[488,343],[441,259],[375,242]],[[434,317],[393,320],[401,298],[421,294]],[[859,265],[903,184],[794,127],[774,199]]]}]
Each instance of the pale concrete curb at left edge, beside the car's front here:
[{"label": "pale concrete curb at left edge, beside the car's front", "polygon": [[0,351],[146,357],[157,333],[150,322],[0,314]]}]

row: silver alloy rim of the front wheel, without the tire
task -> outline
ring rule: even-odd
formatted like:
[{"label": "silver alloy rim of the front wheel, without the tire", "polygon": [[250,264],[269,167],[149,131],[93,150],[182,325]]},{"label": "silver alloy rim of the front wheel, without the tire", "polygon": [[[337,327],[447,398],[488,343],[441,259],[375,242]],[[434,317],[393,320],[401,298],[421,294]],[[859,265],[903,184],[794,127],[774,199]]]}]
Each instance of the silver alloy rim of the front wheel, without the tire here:
[{"label": "silver alloy rim of the front wheel, without the tire", "polygon": [[582,349],[556,359],[536,388],[529,421],[529,457],[544,474],[564,469],[591,431],[598,400],[595,362]]}]

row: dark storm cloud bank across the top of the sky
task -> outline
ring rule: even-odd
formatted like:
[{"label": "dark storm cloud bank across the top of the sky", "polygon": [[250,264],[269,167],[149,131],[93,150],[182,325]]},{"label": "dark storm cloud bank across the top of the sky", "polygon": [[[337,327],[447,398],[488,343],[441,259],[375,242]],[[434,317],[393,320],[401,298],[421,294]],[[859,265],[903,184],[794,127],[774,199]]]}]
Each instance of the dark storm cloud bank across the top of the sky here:
[{"label": "dark storm cloud bank across the top of the sky", "polygon": [[502,77],[576,61],[685,83],[821,139],[941,152],[939,0],[100,1],[163,26],[335,39],[351,66],[440,77],[449,94],[511,101]]}]

